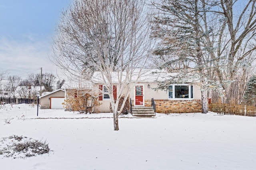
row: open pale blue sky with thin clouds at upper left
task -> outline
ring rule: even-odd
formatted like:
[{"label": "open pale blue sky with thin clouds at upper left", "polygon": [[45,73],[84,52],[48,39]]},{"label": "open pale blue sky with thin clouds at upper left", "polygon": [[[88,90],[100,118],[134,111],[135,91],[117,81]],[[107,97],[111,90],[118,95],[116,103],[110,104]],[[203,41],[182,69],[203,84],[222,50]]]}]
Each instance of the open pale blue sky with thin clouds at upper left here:
[{"label": "open pale blue sky with thin clouds at upper left", "polygon": [[52,72],[52,39],[61,12],[72,0],[0,0],[0,72],[25,79]]}]

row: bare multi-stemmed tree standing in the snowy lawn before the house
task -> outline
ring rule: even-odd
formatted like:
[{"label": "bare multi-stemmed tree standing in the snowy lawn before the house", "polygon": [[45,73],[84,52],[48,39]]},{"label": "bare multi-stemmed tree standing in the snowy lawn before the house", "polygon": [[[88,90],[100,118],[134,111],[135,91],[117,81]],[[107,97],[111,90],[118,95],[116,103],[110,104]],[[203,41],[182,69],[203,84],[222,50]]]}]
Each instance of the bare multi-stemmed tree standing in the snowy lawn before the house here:
[{"label": "bare multi-stemmed tree standing in the snowy lawn before the house", "polygon": [[[60,68],[84,78],[94,70],[100,73],[98,82],[110,96],[114,130],[119,129],[118,113],[129,96],[130,80],[140,77],[149,56],[150,22],[145,11],[144,0],[75,0],[63,12],[54,39],[53,62]],[[115,101],[112,87],[116,83]]]}]

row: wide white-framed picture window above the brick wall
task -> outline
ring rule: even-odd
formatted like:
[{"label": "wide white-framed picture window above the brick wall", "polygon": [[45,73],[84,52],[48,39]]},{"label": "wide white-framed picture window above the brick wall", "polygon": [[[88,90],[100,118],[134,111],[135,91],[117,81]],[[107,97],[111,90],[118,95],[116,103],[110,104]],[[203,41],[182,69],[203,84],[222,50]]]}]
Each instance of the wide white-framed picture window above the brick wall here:
[{"label": "wide white-framed picture window above the brick wall", "polygon": [[193,95],[193,86],[187,84],[181,85],[170,85],[168,90],[168,98],[169,99],[191,99],[194,98]]}]

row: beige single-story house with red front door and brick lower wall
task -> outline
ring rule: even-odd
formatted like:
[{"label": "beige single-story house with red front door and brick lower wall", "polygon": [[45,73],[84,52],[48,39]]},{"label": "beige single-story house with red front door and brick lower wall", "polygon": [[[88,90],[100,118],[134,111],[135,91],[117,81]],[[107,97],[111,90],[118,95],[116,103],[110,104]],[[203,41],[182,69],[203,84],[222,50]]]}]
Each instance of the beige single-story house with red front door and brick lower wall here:
[{"label": "beige single-story house with red front door and brick lower wall", "polygon": [[[129,99],[132,106],[151,106],[152,98],[156,104],[156,112],[158,113],[191,113],[202,111],[202,100],[199,81],[189,80],[182,84],[169,84],[168,91],[157,90],[158,83],[156,81],[164,80],[170,73],[159,73],[143,75],[142,78],[135,83],[132,80],[129,90]],[[100,106],[94,107],[94,112],[110,112],[110,98],[107,88],[100,84],[99,78],[94,81],[94,92],[99,94]],[[98,81],[97,81],[98,80]],[[114,82],[114,78],[113,78]],[[118,86],[113,86],[114,98],[118,92]]]}]

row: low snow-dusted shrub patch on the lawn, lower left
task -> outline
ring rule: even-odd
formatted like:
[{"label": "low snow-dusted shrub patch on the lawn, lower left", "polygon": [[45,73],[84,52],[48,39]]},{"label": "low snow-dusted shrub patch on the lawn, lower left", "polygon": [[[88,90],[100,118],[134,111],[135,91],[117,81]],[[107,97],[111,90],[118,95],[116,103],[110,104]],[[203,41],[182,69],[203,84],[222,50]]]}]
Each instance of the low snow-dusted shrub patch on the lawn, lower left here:
[{"label": "low snow-dusted shrub patch on the lawn, lower left", "polygon": [[0,156],[12,158],[26,158],[49,153],[46,141],[32,140],[32,138],[12,135],[0,140]]}]

